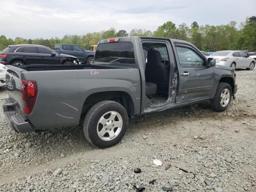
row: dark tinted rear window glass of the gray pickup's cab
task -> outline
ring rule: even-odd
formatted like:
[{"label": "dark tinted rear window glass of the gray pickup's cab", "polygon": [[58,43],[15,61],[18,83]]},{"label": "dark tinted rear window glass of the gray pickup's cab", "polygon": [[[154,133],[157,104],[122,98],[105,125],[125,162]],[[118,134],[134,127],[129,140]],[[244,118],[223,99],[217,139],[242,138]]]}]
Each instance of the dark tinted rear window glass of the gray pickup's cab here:
[{"label": "dark tinted rear window glass of the gray pickup's cab", "polygon": [[131,42],[99,44],[95,53],[94,64],[126,66],[135,64],[134,49]]}]

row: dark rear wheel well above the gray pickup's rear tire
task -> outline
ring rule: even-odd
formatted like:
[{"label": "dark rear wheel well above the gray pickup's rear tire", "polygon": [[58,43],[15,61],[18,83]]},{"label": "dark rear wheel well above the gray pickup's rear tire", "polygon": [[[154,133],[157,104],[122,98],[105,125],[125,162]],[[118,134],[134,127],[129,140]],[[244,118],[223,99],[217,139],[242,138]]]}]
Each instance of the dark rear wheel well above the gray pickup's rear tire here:
[{"label": "dark rear wheel well above the gray pickup's rear tire", "polygon": [[88,110],[96,103],[104,100],[112,100],[120,103],[127,111],[128,115],[134,115],[134,104],[131,96],[127,92],[123,91],[105,91],[91,94],[84,101],[84,105],[81,112],[81,118],[85,116]]}]

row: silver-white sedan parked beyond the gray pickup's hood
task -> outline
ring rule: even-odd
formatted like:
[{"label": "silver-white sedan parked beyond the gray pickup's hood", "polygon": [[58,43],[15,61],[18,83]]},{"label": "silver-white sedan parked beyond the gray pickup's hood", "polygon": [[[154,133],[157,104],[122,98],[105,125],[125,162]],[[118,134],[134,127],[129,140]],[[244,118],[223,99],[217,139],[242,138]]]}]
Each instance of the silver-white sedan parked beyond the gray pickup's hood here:
[{"label": "silver-white sedan parked beyond the gray pickup's hood", "polygon": [[255,66],[255,60],[241,51],[217,51],[212,58],[216,59],[216,65],[224,65],[236,69],[246,68],[247,70],[253,70]]}]

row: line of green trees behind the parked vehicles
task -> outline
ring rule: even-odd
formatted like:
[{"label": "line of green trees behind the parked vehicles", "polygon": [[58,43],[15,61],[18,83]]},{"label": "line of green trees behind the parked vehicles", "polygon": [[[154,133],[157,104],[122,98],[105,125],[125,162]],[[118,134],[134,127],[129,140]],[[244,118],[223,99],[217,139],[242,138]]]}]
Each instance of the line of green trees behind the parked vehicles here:
[{"label": "line of green trees behind the parked vehicles", "polygon": [[16,37],[14,40],[7,39],[4,35],[0,36],[0,50],[11,44],[38,44],[54,48],[54,44],[70,43],[77,44],[85,49],[89,49],[91,45],[97,44],[101,39],[124,37],[124,36],[155,36],[186,40],[194,44],[200,50],[206,52],[215,52],[218,50],[240,50],[246,49],[256,51],[256,16],[246,18],[240,23],[239,28],[236,27],[236,21],[229,24],[201,25],[194,21],[190,26],[186,23],[178,26],[168,21],[158,26],[156,31],[152,32],[146,29],[132,29],[129,33],[126,30],[116,31],[115,28],[104,30],[101,32],[87,33],[86,35],[65,35],[63,38],[36,38],[25,39]]}]

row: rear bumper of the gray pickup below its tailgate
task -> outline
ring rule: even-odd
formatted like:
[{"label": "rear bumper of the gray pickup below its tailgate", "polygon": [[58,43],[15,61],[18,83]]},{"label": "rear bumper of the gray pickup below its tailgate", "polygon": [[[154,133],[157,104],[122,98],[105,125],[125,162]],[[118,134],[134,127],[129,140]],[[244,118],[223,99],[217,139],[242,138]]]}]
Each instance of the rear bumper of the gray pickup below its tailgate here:
[{"label": "rear bumper of the gray pickup below its tailgate", "polygon": [[14,98],[3,99],[3,109],[6,121],[15,132],[27,133],[34,131],[30,123],[26,121],[24,114],[19,113],[20,106]]}]

